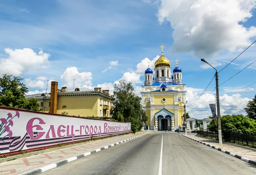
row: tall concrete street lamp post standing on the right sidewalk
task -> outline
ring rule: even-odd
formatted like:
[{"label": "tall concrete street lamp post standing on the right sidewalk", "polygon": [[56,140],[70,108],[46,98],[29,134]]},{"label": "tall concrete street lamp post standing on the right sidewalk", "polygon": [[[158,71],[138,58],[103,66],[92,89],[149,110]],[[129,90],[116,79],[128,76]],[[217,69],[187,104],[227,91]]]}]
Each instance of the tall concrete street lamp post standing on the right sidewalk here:
[{"label": "tall concrete street lamp post standing on the right sidewalk", "polygon": [[[209,64],[204,58],[201,59],[204,63]],[[212,65],[209,64],[209,66],[212,67]],[[215,69],[214,67],[212,67]],[[215,69],[215,77],[216,77],[216,96],[217,96],[217,112],[218,112],[218,138],[220,143],[220,148],[222,148],[222,133],[221,133],[221,112],[220,112],[220,99],[219,99],[219,93],[218,93],[218,72],[217,69]]]}]

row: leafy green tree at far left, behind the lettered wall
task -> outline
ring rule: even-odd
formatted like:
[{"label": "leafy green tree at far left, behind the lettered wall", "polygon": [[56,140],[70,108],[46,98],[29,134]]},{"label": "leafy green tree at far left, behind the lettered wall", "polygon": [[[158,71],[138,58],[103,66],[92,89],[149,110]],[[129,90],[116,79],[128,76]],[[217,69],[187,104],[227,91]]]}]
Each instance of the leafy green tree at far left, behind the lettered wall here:
[{"label": "leafy green tree at far left, behind the lettered wall", "polygon": [[22,80],[6,74],[0,77],[0,106],[39,111],[40,105],[35,98],[25,98],[29,90]]}]

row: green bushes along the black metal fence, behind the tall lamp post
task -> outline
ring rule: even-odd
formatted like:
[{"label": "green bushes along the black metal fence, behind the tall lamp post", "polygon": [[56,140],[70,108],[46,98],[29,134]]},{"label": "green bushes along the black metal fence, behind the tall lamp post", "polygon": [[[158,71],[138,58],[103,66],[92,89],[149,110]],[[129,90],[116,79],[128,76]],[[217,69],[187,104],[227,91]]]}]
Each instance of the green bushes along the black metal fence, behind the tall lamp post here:
[{"label": "green bushes along the black metal fence, behind the tall lamp post", "polygon": [[[208,129],[217,132],[218,119],[217,126],[215,121],[212,120],[208,125]],[[221,117],[221,130],[224,135],[228,132],[256,135],[256,121],[244,115],[224,115]]]}]

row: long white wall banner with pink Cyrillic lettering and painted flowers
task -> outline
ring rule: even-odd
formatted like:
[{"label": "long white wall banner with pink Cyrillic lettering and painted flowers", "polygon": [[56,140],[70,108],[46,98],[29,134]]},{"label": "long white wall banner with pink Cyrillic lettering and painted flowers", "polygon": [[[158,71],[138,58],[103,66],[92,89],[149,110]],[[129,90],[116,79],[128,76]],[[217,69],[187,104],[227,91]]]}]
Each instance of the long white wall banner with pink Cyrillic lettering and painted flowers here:
[{"label": "long white wall banner with pink Cyrillic lettering and painted flowers", "polygon": [[0,154],[131,132],[131,123],[0,106]]}]

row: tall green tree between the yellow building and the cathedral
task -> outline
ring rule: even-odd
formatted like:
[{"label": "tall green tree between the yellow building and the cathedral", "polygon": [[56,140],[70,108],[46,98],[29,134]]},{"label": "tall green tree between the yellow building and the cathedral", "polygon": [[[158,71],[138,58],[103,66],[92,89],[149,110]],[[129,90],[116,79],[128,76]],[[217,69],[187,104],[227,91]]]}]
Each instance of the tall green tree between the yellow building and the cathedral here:
[{"label": "tall green tree between the yellow building and the cathedral", "polygon": [[135,93],[131,82],[119,80],[114,84],[114,102],[111,115],[114,120],[131,122],[131,132],[142,129],[143,122],[148,120],[143,110],[141,98]]}]

